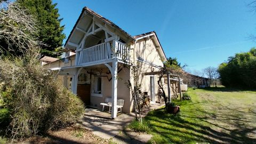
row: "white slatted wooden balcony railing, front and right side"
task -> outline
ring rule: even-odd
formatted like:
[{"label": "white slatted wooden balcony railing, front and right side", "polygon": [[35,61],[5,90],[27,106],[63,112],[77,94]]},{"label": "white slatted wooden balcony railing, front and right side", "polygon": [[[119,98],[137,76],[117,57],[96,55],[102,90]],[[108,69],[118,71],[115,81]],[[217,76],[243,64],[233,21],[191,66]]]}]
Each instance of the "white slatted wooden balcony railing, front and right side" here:
[{"label": "white slatted wooden balcony railing, front and right side", "polygon": [[[130,49],[125,44],[115,41],[113,49],[110,48],[109,43],[102,43],[86,48],[79,53],[79,59],[77,65],[84,65],[86,63],[93,63],[99,61],[105,61],[114,57],[113,50],[116,50],[116,56],[123,61],[130,60]],[[78,54],[76,55],[76,57]]]}]

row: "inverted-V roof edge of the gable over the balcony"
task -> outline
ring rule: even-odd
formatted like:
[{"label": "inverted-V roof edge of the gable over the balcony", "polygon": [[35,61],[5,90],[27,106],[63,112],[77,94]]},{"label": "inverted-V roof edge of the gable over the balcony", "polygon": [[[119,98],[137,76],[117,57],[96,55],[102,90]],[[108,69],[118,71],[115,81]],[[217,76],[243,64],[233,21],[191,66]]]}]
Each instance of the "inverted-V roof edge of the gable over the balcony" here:
[{"label": "inverted-V roof edge of the gable over the balcony", "polygon": [[92,14],[92,15],[94,15],[95,17],[99,18],[99,19],[102,20],[103,22],[107,23],[109,26],[115,27],[115,28],[119,29],[119,30],[122,31],[124,34],[126,34],[126,35],[129,36],[130,38],[134,39],[134,38],[133,38],[131,35],[129,35],[126,31],[124,31],[122,28],[118,27],[114,22],[108,20],[107,18],[102,17],[102,15],[100,15],[100,14],[94,12],[93,10],[91,10],[91,9],[89,9],[88,7],[85,6],[85,7],[83,8],[81,14],[79,15],[79,18],[77,19],[77,21],[76,21],[76,23],[75,23],[75,26],[74,26],[73,29],[71,30],[71,32],[70,32],[70,34],[69,34],[69,36],[68,36],[68,38],[67,38],[67,41],[66,41],[66,43],[64,44],[64,46],[66,46],[66,44],[67,44],[67,42],[68,42],[68,39],[70,38],[71,34],[74,32],[74,30],[75,30],[75,28],[76,28],[76,26],[77,26],[79,20],[81,19],[82,15],[83,15],[83,13],[84,13],[85,11],[88,12],[88,13],[90,13],[90,14]]}]

